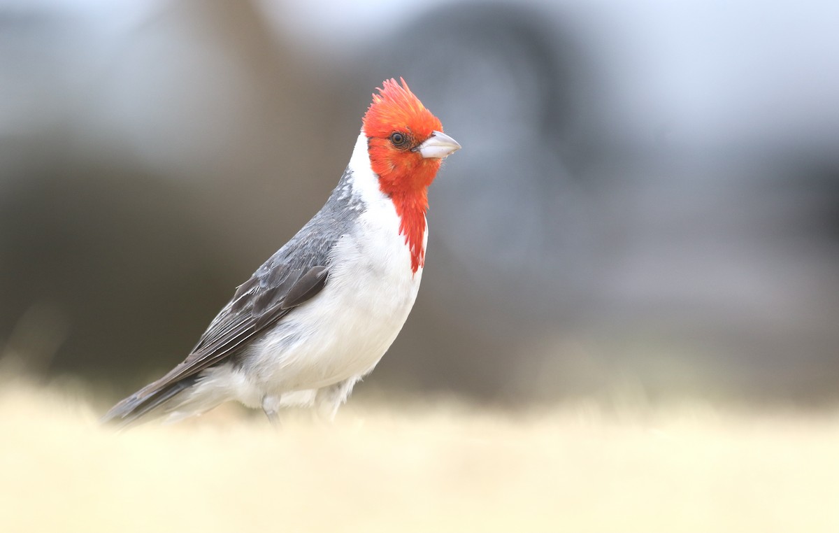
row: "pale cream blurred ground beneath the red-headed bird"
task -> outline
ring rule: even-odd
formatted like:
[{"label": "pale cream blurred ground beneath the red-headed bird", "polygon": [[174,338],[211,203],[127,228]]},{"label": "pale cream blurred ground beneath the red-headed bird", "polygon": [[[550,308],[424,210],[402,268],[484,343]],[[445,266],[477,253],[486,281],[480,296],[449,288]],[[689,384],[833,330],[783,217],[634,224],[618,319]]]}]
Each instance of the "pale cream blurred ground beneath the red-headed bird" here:
[{"label": "pale cream blurred ground beneath the red-headed bird", "polygon": [[839,531],[839,412],[353,402],[122,434],[0,387],[0,531]]}]

